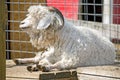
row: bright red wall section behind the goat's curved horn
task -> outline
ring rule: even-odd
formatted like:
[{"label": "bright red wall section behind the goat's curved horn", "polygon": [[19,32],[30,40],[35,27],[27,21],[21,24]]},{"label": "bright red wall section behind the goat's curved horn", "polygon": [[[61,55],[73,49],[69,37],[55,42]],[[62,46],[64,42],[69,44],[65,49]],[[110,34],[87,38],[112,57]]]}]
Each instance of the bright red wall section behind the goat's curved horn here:
[{"label": "bright red wall section behind the goat's curved horn", "polygon": [[79,0],[47,0],[48,6],[58,8],[62,14],[68,19],[78,19],[78,3]]}]

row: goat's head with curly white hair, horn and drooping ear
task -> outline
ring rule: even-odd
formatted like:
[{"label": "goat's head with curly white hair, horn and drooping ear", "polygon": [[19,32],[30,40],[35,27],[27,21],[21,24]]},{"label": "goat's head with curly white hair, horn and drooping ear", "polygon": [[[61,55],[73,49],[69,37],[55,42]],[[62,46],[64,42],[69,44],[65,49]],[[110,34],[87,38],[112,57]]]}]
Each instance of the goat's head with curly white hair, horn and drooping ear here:
[{"label": "goat's head with curly white hair, horn and drooping ear", "polygon": [[20,23],[22,30],[46,30],[50,27],[58,30],[63,26],[64,18],[58,9],[41,5],[31,6],[27,17]]}]

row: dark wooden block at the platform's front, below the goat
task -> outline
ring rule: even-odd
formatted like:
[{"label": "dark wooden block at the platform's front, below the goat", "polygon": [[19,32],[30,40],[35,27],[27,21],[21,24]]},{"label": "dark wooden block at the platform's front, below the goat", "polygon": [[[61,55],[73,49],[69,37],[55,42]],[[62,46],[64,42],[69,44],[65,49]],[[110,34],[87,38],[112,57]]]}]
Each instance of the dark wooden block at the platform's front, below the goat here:
[{"label": "dark wooden block at the platform's front, below the goat", "polygon": [[42,72],[39,80],[78,80],[76,70]]}]

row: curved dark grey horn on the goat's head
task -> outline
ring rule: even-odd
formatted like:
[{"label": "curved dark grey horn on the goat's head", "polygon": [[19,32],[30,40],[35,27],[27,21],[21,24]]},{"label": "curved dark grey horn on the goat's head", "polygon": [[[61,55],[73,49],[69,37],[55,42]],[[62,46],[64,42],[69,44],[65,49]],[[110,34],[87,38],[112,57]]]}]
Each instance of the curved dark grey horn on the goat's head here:
[{"label": "curved dark grey horn on the goat's head", "polygon": [[[57,19],[58,24],[55,24],[55,27],[62,28],[64,26],[64,17],[62,13],[55,7],[48,7],[48,10],[52,13],[54,13],[54,18]],[[54,24],[54,22],[53,22]]]}]

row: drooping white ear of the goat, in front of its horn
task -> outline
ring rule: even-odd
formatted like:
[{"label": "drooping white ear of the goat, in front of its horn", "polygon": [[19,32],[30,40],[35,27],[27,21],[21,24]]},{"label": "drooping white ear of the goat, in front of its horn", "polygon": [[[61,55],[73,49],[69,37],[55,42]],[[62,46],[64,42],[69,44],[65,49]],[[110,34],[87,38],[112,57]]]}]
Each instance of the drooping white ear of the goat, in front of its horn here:
[{"label": "drooping white ear of the goat, in front of its horn", "polygon": [[50,26],[50,23],[53,21],[53,17],[55,14],[47,14],[45,17],[43,17],[37,26],[37,29],[46,29]]}]

